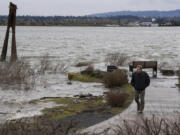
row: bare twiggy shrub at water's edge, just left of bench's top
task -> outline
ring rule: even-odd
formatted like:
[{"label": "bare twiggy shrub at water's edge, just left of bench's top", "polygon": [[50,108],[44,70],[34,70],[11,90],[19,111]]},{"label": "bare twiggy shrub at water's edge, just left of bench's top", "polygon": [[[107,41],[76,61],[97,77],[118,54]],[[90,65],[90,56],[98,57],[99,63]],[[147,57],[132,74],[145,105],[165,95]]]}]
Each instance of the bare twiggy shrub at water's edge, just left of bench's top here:
[{"label": "bare twiggy shrub at water's edge, just left of bench's top", "polygon": [[105,58],[107,65],[122,66],[124,65],[129,57],[126,54],[114,53],[108,54]]}]

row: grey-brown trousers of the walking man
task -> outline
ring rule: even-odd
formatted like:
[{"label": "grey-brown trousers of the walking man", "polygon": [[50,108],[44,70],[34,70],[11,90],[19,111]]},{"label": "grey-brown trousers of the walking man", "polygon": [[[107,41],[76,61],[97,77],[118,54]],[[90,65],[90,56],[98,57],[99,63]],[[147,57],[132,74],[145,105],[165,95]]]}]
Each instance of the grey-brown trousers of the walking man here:
[{"label": "grey-brown trousers of the walking man", "polygon": [[135,90],[135,101],[137,103],[137,110],[138,111],[143,111],[144,110],[144,97],[145,97],[145,90],[143,91],[138,91]]}]

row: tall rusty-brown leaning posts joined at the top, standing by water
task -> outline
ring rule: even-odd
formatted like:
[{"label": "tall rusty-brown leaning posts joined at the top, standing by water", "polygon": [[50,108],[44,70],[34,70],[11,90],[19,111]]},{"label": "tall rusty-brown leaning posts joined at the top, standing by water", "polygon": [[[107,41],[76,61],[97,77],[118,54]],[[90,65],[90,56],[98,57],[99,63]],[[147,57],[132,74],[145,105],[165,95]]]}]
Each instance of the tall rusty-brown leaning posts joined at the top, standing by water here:
[{"label": "tall rusty-brown leaning posts joined at the top, standing by water", "polygon": [[17,50],[16,50],[16,10],[17,10],[17,6],[15,4],[13,4],[12,2],[10,2],[8,25],[7,25],[6,36],[5,36],[5,39],[4,39],[3,49],[2,49],[2,53],[1,53],[1,61],[6,60],[10,28],[12,28],[11,61],[16,61],[17,60]]}]

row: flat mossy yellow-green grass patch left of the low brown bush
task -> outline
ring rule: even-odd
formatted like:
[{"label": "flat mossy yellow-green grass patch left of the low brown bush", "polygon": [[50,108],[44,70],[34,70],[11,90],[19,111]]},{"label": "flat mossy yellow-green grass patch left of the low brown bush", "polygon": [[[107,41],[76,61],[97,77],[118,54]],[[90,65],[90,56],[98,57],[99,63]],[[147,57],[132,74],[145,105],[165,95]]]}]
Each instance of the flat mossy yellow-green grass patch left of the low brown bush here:
[{"label": "flat mossy yellow-green grass patch left of the low brown bush", "polygon": [[31,103],[37,102],[55,102],[63,105],[56,106],[54,108],[45,108],[42,110],[43,115],[50,119],[62,119],[68,116],[76,115],[84,110],[93,110],[93,108],[105,105],[104,99],[101,97],[94,97],[90,100],[59,97],[31,101]]}]

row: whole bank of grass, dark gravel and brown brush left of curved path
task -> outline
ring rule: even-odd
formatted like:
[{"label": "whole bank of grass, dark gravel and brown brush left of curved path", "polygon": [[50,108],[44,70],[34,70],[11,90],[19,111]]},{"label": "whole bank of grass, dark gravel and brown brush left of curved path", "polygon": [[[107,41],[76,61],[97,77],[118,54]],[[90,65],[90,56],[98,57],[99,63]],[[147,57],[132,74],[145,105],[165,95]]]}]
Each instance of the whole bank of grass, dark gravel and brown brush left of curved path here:
[{"label": "whole bank of grass, dark gravel and brown brush left of curved path", "polygon": [[41,98],[30,103],[55,102],[56,107],[42,110],[42,115],[7,121],[0,128],[1,135],[66,135],[71,130],[92,126],[124,111],[134,99],[130,84],[116,90],[125,90],[130,96],[122,107],[111,107],[106,98],[87,96],[72,98]]}]

